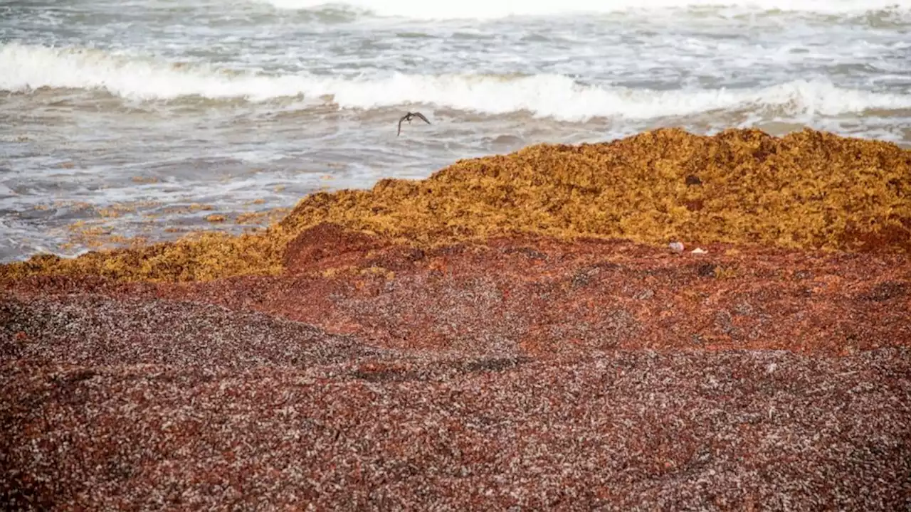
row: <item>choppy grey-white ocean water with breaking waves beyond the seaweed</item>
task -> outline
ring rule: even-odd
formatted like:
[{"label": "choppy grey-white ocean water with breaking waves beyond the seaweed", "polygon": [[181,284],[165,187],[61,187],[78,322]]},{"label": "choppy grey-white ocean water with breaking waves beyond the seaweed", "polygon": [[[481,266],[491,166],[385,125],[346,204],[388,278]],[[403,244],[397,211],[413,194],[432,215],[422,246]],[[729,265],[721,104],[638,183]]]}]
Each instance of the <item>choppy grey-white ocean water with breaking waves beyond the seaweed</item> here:
[{"label": "choppy grey-white ocean water with breaking waves beyond the seaweed", "polygon": [[666,126],[911,147],[911,0],[0,2],[0,261]]}]

